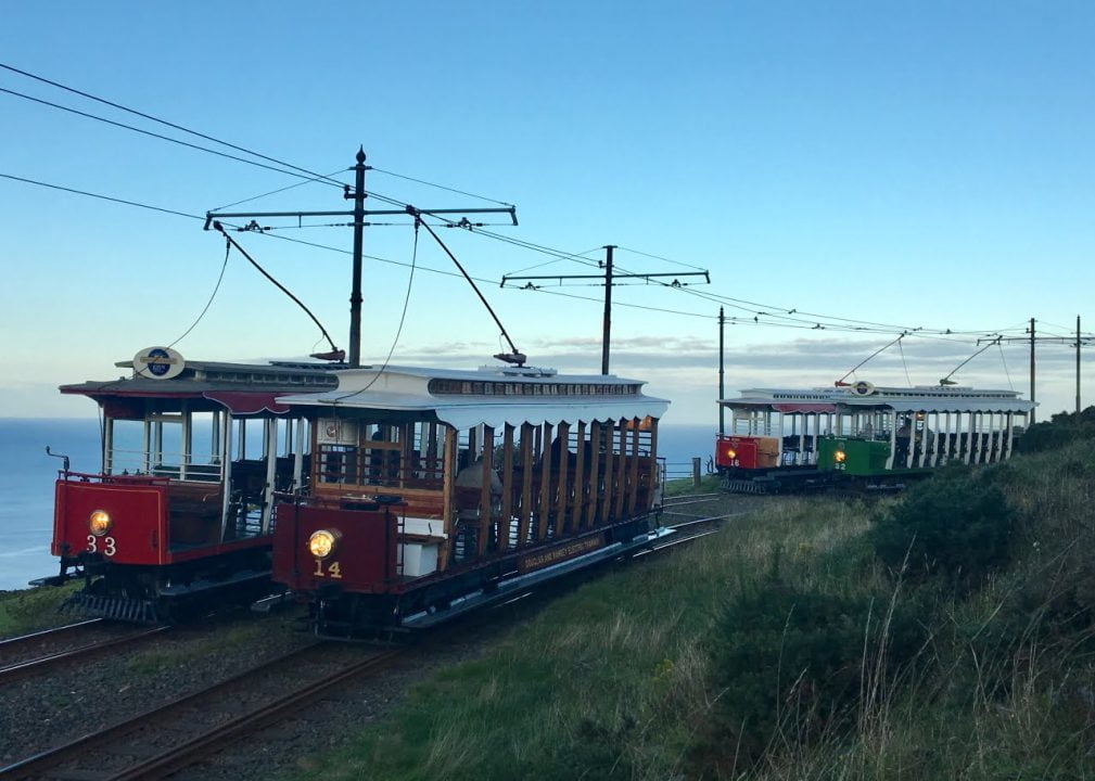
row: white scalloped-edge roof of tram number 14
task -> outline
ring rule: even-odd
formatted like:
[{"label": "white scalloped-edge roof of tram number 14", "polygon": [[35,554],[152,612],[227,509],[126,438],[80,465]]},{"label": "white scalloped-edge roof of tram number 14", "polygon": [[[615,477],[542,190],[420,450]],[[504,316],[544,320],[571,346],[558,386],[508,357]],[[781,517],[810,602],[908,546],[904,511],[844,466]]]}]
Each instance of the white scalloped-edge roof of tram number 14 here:
[{"label": "white scalloped-edge roof of tram number 14", "polygon": [[660,418],[669,401],[643,393],[642,380],[557,374],[533,366],[479,370],[361,366],[337,373],[338,389],[279,396],[288,405],[434,413],[458,429],[483,423],[576,423]]}]

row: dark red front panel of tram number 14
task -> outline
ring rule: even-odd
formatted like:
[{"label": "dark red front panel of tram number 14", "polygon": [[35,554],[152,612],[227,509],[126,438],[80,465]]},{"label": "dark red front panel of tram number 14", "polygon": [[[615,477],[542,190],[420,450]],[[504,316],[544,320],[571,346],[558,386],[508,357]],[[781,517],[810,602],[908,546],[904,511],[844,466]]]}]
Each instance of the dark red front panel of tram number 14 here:
[{"label": "dark red front panel of tram number 14", "polygon": [[[334,553],[322,560],[308,551],[308,538],[320,529],[341,534]],[[327,583],[359,594],[395,591],[397,535],[399,518],[387,509],[279,504],[273,579],[295,591],[312,591]]]}]

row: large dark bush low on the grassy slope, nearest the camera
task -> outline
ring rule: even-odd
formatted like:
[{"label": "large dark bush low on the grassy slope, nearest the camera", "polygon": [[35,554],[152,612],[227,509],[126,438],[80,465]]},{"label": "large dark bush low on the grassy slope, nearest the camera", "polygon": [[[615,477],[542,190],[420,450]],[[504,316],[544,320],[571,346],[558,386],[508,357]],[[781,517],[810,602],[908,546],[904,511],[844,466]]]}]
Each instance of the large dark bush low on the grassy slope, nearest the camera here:
[{"label": "large dark bush low on the grassy slope, nearest the camera", "polygon": [[804,744],[843,734],[879,653],[894,674],[923,645],[917,611],[897,607],[887,621],[888,597],[825,593],[771,576],[744,590],[714,636],[718,700],[707,754],[740,770],[783,738]]}]

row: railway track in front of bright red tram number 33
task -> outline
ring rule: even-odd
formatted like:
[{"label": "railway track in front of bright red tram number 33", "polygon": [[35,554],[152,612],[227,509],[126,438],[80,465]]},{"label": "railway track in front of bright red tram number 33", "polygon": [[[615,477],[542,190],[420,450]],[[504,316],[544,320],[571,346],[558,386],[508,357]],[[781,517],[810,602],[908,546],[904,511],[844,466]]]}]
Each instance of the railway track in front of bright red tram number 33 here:
[{"label": "railway track in front of bright red tram number 33", "polygon": [[[170,627],[152,627],[124,630],[119,634],[108,621],[94,618],[10,638],[0,641],[0,685],[91,658],[108,649],[131,645],[168,629]],[[102,637],[90,637],[95,633]]]}]

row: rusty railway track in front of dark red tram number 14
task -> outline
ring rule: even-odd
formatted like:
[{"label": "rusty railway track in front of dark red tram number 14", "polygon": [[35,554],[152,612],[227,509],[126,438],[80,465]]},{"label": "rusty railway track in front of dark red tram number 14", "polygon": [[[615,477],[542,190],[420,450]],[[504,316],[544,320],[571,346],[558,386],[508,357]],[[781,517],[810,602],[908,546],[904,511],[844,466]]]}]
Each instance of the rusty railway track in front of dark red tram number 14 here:
[{"label": "rusty railway track in front of dark red tram number 14", "polygon": [[[406,649],[361,658],[360,646],[316,642],[136,718],[0,768],[0,779],[158,779],[221,750]],[[342,660],[342,661],[339,661]]]}]

